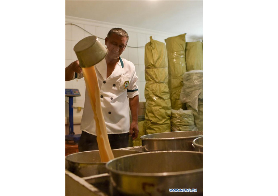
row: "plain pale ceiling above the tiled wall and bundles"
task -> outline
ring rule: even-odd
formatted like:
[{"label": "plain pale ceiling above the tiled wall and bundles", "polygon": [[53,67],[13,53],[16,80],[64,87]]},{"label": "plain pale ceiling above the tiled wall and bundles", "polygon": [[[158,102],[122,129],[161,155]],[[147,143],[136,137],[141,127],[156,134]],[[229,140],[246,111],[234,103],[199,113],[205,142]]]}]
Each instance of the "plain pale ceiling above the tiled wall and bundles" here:
[{"label": "plain pale ceiling above the tiled wall and bundles", "polygon": [[203,39],[203,1],[66,0],[65,15]]}]

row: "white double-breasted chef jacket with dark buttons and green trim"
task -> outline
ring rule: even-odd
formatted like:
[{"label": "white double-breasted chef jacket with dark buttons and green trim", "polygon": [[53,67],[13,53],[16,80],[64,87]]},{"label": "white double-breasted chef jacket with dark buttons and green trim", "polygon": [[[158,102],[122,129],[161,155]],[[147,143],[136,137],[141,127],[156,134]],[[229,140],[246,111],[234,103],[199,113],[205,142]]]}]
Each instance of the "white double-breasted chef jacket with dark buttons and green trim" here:
[{"label": "white double-breasted chef jacket with dark buttons and green trim", "polygon": [[[122,60],[123,66],[120,60]],[[95,65],[100,89],[101,108],[108,134],[129,132],[129,98],[139,94],[136,84],[138,77],[134,64],[126,59],[120,58],[120,60],[108,78],[106,78],[105,58]],[[77,74],[77,76],[74,74],[72,79],[82,77],[82,73]],[[94,112],[88,93],[86,88],[80,128],[82,131],[96,135]]]}]

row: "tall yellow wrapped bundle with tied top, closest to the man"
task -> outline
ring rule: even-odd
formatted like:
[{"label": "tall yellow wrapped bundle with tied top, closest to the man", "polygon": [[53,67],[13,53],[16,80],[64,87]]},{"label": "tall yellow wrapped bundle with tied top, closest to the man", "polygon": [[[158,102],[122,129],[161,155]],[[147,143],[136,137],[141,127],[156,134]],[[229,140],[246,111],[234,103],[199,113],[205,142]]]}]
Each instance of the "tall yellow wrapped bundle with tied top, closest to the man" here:
[{"label": "tall yellow wrapped bundle with tied top, closest to the man", "polygon": [[145,134],[171,131],[166,46],[153,40],[145,45]]}]

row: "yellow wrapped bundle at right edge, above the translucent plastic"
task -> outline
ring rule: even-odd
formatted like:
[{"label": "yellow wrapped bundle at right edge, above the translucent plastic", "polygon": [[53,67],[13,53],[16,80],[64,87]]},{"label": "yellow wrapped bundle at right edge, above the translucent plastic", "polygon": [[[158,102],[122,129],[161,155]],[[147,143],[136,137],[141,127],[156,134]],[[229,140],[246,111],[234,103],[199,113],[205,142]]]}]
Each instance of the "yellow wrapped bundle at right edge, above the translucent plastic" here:
[{"label": "yellow wrapped bundle at right edge, above the translucent plastic", "polygon": [[186,42],[185,61],[187,72],[203,70],[203,42]]}]

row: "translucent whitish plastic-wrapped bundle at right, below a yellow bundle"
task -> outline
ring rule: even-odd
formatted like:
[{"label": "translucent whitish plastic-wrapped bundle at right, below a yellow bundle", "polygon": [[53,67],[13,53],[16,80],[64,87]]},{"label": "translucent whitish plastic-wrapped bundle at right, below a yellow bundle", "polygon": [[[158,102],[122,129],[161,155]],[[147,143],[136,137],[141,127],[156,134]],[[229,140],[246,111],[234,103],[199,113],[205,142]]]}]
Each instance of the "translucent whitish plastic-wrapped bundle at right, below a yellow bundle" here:
[{"label": "translucent whitish plastic-wrapped bundle at right, below a yellow bundle", "polygon": [[187,103],[197,111],[198,99],[203,99],[203,72],[202,70],[185,72],[180,93],[180,101]]}]

